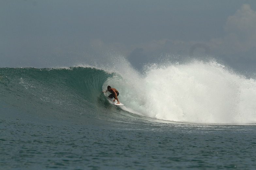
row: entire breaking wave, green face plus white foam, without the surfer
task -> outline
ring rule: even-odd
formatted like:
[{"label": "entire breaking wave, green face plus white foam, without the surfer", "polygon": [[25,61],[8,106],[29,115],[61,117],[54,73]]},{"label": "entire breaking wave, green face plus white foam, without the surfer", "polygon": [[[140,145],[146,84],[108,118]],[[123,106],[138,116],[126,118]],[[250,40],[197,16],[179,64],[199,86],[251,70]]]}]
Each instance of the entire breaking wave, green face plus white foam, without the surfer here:
[{"label": "entire breaking wave, green face plus white foam, without the surfer", "polygon": [[[86,115],[89,121],[114,112],[117,120],[139,115],[172,123],[256,123],[256,81],[216,62],[152,65],[144,74],[127,63],[119,67],[0,68],[0,106],[45,119]],[[101,93],[107,85],[125,106],[109,103]]]}]

